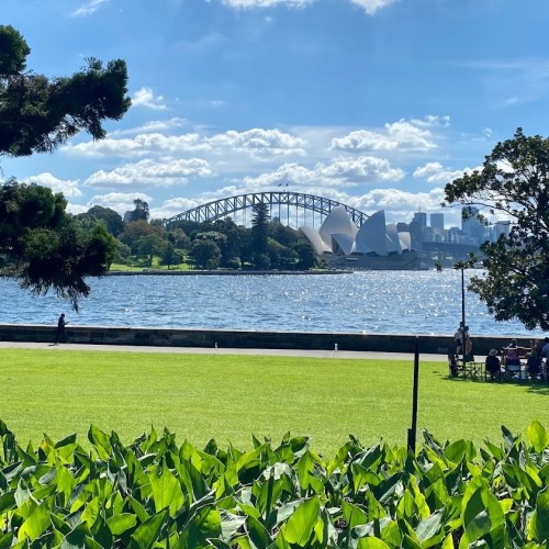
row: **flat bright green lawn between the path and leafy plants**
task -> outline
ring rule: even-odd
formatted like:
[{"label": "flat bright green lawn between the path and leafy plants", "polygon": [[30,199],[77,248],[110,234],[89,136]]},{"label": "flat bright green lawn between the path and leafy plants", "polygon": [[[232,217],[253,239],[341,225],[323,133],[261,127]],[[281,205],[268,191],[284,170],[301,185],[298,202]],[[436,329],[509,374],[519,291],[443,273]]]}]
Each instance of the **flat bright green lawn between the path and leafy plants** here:
[{"label": "flat bright green lawn between the path and leafy plants", "polygon": [[[279,441],[312,437],[327,457],[354,434],[406,444],[412,362],[271,356],[221,356],[0,349],[0,419],[20,444],[77,433],[91,424],[130,442],[150,426],[203,446],[251,447],[251,435]],[[445,363],[423,362],[418,440],[500,441],[503,424],[523,433],[549,427],[549,388],[447,378]]]}]

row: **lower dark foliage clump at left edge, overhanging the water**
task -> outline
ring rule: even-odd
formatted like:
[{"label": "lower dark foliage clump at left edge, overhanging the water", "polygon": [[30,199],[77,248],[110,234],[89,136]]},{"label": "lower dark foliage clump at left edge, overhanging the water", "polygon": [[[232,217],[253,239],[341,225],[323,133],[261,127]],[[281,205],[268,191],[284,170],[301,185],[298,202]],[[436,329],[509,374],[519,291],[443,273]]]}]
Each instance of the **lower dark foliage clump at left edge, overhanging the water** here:
[{"label": "lower dark foliage clump at left edge, overhanging the water", "polygon": [[109,270],[116,240],[102,224],[85,231],[66,206],[45,187],[13,179],[0,186],[0,274],[36,294],[52,289],[78,310],[90,292],[85,278]]}]

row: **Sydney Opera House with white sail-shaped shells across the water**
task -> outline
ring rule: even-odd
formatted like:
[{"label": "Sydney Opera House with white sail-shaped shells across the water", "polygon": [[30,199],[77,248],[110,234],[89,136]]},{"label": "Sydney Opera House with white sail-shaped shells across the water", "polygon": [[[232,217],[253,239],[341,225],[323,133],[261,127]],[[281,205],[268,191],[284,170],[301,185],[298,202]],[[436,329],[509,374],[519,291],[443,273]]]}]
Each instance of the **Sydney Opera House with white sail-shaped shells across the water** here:
[{"label": "Sydney Opera House with white sail-shaped shells across the water", "polygon": [[371,215],[359,228],[345,206],[334,208],[320,231],[300,227],[316,254],[330,267],[355,269],[417,269],[419,257],[407,232],[385,223],[385,212]]}]

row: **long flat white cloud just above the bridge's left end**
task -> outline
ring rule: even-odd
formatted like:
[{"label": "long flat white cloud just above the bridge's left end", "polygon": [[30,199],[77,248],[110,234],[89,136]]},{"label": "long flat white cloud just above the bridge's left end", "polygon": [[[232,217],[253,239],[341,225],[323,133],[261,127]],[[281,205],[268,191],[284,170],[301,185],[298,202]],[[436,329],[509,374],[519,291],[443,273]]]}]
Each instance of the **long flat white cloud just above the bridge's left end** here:
[{"label": "long flat white cloud just above the bridge's left end", "polygon": [[170,187],[186,184],[190,177],[209,177],[213,171],[210,165],[200,158],[188,160],[165,159],[154,161],[144,159],[135,164],[126,164],[111,171],[99,170],[92,173],[85,183],[90,187]]}]

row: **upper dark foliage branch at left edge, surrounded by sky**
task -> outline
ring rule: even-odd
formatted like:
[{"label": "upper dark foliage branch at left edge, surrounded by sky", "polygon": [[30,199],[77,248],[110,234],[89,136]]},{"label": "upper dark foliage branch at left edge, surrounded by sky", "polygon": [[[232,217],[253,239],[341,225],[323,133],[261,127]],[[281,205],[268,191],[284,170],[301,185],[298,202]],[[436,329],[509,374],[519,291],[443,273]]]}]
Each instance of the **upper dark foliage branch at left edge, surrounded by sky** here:
[{"label": "upper dark foliage branch at left edge, surrounded by sky", "polygon": [[89,58],[72,76],[49,79],[25,72],[30,53],[15,29],[0,25],[0,155],[52,152],[82,130],[101,139],[102,122],[130,108],[125,61]]}]

